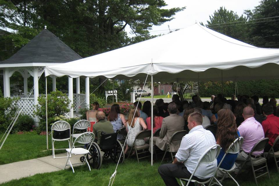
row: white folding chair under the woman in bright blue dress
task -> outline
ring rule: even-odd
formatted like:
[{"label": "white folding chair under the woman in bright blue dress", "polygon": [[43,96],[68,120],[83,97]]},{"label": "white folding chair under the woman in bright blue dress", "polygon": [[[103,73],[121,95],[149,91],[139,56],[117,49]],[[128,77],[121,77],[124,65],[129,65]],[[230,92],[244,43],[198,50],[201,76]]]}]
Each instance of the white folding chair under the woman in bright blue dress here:
[{"label": "white folding chair under the woman in bright blue dress", "polygon": [[[228,150],[225,152],[223,158],[221,159],[221,161],[220,161],[220,163],[219,163],[219,165],[217,167],[217,170],[224,171],[225,174],[223,175],[223,178],[221,180],[218,180],[216,177],[212,177],[212,179],[211,179],[211,181],[209,183],[209,186],[210,185],[215,185],[215,184],[222,186],[221,183],[222,183],[222,181],[224,180],[224,178],[226,177],[227,174],[239,186],[237,181],[230,175],[230,172],[232,172],[235,169],[235,164],[233,164],[233,166],[232,166],[232,168],[230,170],[222,169],[222,168],[220,168],[220,166],[221,166],[223,160],[225,159],[225,156],[228,153],[231,153],[231,154],[238,154],[239,153],[240,147],[242,146],[242,143],[243,143],[243,140],[244,140],[243,137],[239,137],[239,138],[235,139],[235,141],[232,142],[232,144],[229,146]],[[214,179],[217,181],[217,183],[213,181]]]}]

